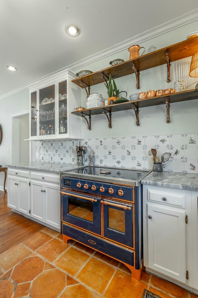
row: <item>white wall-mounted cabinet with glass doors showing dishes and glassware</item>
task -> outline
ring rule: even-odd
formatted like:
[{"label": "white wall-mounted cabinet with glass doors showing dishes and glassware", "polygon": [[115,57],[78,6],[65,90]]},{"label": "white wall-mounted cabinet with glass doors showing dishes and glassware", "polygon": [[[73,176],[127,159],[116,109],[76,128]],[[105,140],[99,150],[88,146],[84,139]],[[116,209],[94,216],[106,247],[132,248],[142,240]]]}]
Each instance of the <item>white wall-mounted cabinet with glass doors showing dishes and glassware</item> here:
[{"label": "white wall-mounted cabinet with glass doors showing dishes and glassware", "polygon": [[80,106],[80,88],[71,82],[74,78],[71,70],[64,70],[28,86],[29,140],[80,138],[79,117],[71,114]]}]

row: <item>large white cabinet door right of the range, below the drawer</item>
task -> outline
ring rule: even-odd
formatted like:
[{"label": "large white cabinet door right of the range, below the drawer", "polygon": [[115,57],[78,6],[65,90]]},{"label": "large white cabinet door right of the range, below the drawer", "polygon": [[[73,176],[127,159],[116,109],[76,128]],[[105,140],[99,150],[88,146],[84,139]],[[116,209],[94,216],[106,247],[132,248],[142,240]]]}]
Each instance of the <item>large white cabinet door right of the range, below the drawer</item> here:
[{"label": "large white cabinet door right of the range, below the drawer", "polygon": [[147,204],[148,267],[186,282],[185,210]]}]

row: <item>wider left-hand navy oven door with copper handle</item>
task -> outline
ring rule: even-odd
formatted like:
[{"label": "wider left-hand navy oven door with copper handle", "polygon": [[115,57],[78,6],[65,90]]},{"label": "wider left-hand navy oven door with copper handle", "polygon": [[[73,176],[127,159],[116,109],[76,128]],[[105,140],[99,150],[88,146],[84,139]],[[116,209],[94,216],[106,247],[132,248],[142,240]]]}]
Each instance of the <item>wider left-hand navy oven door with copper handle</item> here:
[{"label": "wider left-hand navy oven door with copper handle", "polygon": [[62,191],[62,222],[101,236],[101,197]]}]

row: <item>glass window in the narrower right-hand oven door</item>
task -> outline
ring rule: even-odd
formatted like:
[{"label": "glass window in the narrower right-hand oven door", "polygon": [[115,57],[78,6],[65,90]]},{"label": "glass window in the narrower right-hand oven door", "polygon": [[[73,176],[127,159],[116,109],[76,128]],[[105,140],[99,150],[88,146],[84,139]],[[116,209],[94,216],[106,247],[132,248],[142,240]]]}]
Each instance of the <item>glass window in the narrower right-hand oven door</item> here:
[{"label": "glass window in the narrower right-hand oven door", "polygon": [[125,233],[125,211],[109,208],[109,228]]}]

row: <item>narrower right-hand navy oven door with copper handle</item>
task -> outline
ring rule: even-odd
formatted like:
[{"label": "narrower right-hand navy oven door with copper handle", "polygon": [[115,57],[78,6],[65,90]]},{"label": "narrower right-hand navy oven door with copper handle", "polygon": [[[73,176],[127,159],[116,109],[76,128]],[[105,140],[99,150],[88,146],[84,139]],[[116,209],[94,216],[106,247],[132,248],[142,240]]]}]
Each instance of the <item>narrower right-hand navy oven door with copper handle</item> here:
[{"label": "narrower right-hand navy oven door with copper handle", "polygon": [[134,249],[134,205],[102,200],[103,237]]}]

